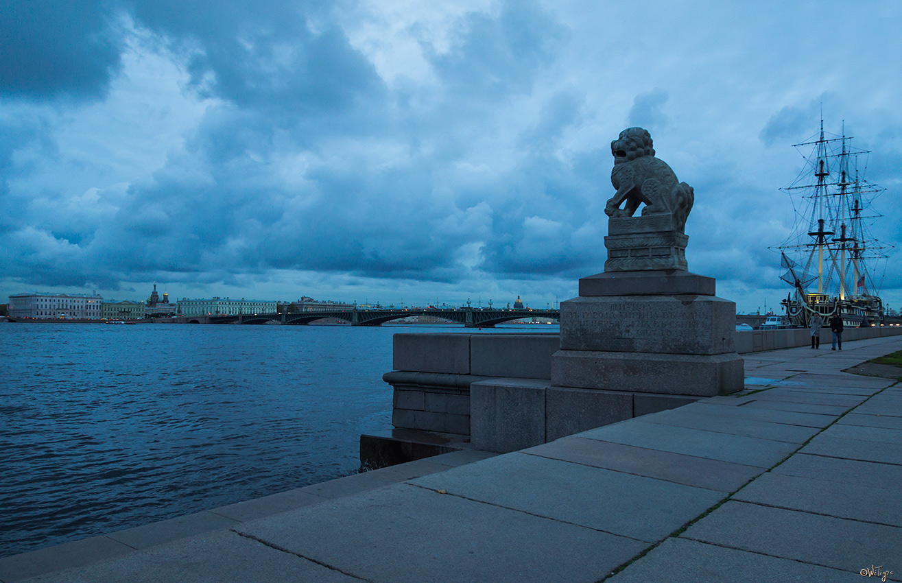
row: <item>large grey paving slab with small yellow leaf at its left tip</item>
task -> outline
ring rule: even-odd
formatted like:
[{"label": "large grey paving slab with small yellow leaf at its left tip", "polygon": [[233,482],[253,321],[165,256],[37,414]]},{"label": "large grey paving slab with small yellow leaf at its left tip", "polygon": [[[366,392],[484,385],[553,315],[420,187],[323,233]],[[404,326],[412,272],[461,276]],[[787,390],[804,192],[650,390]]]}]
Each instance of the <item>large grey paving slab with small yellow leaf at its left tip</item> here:
[{"label": "large grey paving slab with small yellow leaf at its left tip", "polygon": [[648,542],[664,539],[724,497],[723,492],[522,453],[410,484]]}]

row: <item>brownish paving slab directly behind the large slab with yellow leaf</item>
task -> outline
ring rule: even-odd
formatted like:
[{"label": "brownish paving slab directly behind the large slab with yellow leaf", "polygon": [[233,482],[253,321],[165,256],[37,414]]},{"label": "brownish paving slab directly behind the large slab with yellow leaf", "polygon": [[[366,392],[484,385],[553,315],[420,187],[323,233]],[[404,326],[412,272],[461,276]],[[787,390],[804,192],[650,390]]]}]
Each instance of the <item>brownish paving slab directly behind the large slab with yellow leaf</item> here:
[{"label": "brownish paving slab directly behind the large slab with yellow leaf", "polygon": [[658,449],[637,448],[610,441],[586,440],[577,436],[523,449],[521,453],[585,466],[605,467],[724,493],[735,491],[761,473],[760,467],[684,456]]}]

